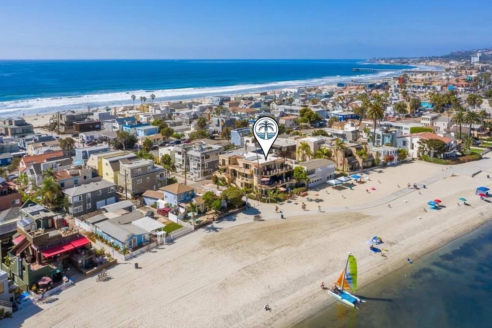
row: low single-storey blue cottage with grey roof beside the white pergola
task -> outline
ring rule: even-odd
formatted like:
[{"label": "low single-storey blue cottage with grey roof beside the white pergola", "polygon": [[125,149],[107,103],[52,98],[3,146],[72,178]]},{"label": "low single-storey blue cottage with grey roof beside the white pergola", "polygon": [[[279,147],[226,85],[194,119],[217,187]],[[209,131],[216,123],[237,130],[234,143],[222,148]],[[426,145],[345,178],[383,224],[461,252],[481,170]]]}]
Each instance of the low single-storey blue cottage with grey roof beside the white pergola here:
[{"label": "low single-storey blue cottage with grey roof beside the white pergola", "polygon": [[94,226],[95,234],[103,239],[118,245],[132,249],[141,246],[150,240],[150,231],[142,229],[133,221],[141,219],[143,214],[140,211],[133,211],[111,219],[100,214],[86,220],[86,223]]}]

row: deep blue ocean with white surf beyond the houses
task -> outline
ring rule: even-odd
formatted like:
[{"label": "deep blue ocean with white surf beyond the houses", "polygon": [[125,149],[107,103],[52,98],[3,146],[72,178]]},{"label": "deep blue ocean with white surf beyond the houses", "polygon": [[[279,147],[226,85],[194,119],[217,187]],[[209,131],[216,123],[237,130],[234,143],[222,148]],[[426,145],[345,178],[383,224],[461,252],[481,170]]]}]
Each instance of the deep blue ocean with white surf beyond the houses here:
[{"label": "deep blue ocean with white surf beyond the houses", "polygon": [[0,115],[128,105],[131,94],[139,104],[152,93],[170,101],[391,75],[357,67],[415,68],[363,60],[0,60]]}]

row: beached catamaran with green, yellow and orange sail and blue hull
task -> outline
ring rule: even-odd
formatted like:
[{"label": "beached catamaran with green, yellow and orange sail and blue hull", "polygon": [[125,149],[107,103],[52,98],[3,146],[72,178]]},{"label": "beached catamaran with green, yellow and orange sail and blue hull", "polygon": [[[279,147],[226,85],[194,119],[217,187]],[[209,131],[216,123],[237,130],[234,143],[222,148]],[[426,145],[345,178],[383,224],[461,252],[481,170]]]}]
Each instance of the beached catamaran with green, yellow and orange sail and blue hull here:
[{"label": "beached catamaran with green, yellow and orange sail and blue hull", "polygon": [[339,301],[347,305],[350,305],[352,307],[356,307],[357,303],[365,302],[365,300],[362,300],[347,292],[347,290],[350,290],[352,293],[355,293],[356,289],[357,289],[357,261],[355,260],[355,257],[352,254],[348,253],[348,258],[345,268],[343,269],[340,276],[338,277],[335,286],[332,289],[327,289],[327,292],[334,298],[337,298]]}]

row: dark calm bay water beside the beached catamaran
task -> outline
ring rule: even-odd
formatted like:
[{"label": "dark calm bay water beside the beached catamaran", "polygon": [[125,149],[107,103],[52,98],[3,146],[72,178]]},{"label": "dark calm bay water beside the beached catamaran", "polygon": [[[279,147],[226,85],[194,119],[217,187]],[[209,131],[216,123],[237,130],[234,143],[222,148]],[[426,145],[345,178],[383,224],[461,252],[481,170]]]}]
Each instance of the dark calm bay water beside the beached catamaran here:
[{"label": "dark calm bay water beside the beached catamaran", "polygon": [[295,327],[492,327],[491,273],[489,223],[360,288],[359,309],[333,303]]}]

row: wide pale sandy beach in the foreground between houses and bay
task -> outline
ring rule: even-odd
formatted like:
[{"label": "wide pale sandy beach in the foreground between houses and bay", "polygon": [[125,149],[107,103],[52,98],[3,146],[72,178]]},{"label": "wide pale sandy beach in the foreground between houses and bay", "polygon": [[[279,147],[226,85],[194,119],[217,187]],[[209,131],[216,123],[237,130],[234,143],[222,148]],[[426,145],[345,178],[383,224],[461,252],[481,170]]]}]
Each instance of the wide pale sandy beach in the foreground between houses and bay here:
[{"label": "wide pale sandy beach in the foreground between houses and bay", "polygon": [[[347,252],[357,258],[363,286],[408,265],[406,258],[418,261],[419,255],[488,221],[492,204],[475,196],[475,188],[492,185],[486,178],[491,164],[484,159],[444,169],[413,162],[368,171],[369,182],[352,191],[312,190],[309,200],[280,205],[285,219],[274,204],[254,202],[255,208],[118,264],[109,270],[110,281],[81,280],[52,302],[15,313],[7,323],[36,328],[289,327],[334,301],[319,285],[336,280]],[[426,188],[409,189],[408,182]],[[372,185],[376,190],[367,193]],[[460,197],[470,206],[462,205]],[[427,209],[435,198],[443,207]],[[303,201],[308,211],[301,210]],[[317,212],[318,205],[324,212]],[[258,211],[266,220],[252,222]],[[387,258],[366,244],[376,235],[389,250]],[[265,303],[272,312],[263,310]]]}]

